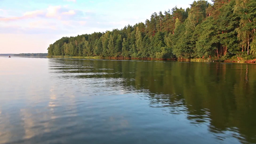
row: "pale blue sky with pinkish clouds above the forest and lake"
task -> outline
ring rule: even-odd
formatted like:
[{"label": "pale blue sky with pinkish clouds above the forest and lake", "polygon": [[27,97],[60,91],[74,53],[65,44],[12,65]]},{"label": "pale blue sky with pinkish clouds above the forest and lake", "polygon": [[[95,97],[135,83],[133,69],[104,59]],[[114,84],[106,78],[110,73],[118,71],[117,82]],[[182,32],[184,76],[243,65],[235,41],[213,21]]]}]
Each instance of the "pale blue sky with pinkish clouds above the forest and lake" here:
[{"label": "pale blue sky with pinkish clouds above the forest and lake", "polygon": [[0,54],[47,53],[63,36],[145,23],[154,12],[194,0],[0,0]]}]

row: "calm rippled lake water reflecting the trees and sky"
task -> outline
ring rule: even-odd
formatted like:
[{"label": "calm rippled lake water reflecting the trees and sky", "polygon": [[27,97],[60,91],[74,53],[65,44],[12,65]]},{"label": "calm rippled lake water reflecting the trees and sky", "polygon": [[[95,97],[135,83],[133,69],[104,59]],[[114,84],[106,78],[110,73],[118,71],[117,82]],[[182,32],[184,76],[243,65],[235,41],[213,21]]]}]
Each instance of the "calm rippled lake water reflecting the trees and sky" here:
[{"label": "calm rippled lake water reflecting the trees and sky", "polygon": [[0,57],[0,144],[256,144],[256,65]]}]

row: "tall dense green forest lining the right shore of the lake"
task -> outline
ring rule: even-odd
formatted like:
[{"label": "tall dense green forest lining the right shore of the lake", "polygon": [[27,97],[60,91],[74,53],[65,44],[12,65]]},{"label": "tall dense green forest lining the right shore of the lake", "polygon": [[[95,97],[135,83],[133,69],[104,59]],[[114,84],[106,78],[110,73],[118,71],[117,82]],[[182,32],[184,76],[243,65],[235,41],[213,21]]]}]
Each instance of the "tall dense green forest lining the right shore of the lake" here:
[{"label": "tall dense green forest lining the right shore of the lake", "polygon": [[145,23],[105,33],[62,37],[48,55],[119,58],[256,57],[256,0],[194,1],[153,13]]}]

